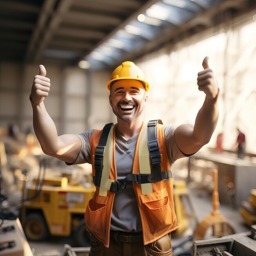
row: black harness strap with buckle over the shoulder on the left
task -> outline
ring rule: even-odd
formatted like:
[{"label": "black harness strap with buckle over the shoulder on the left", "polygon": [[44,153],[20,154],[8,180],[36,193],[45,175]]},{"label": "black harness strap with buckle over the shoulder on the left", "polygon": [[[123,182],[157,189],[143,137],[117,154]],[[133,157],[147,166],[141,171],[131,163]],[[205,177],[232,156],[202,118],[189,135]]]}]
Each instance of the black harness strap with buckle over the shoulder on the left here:
[{"label": "black harness strap with buckle over the shoulder on the left", "polygon": [[105,148],[108,140],[108,134],[113,125],[114,125],[113,123],[109,123],[104,126],[101,137],[99,139],[99,144],[95,148],[95,154],[94,154],[95,186],[100,186],[101,184],[101,175],[103,170],[103,157],[104,157]]}]

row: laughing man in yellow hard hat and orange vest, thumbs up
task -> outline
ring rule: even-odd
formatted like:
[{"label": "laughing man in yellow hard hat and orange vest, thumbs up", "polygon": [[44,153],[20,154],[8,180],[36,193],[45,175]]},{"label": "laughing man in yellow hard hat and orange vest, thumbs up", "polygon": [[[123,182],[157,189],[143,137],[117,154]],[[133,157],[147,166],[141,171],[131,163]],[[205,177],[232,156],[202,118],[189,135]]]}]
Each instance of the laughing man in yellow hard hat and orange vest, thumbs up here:
[{"label": "laughing man in yellow hard hat and orange vest, thumbs up", "polygon": [[178,223],[171,165],[207,144],[218,121],[218,85],[208,59],[204,58],[204,70],[198,73],[198,89],[206,97],[195,125],[144,123],[141,113],[149,85],[139,67],[126,61],[107,83],[117,124],[61,136],[43,103],[50,79],[45,67],[39,66],[30,101],[43,152],[67,164],[92,164],[96,192],[85,211],[90,256],[173,255],[171,231]]}]

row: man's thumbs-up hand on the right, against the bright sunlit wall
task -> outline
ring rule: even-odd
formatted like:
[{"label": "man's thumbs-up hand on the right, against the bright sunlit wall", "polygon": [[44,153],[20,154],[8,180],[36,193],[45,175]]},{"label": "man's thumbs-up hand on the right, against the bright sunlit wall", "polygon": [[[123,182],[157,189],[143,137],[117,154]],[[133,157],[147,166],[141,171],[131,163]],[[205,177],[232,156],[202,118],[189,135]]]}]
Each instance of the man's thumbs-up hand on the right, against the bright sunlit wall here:
[{"label": "man's thumbs-up hand on the right, against the bright sunlit wall", "polygon": [[218,98],[219,89],[213,71],[209,68],[209,57],[203,60],[203,71],[198,73],[198,90],[203,91],[209,99]]}]

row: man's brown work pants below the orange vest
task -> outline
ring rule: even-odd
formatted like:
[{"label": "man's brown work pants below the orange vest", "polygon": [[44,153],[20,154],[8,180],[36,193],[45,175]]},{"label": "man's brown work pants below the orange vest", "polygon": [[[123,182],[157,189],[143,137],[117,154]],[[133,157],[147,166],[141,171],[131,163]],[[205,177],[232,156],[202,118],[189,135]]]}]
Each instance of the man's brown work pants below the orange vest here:
[{"label": "man's brown work pants below the orange vest", "polygon": [[104,247],[94,234],[91,234],[89,256],[173,256],[171,234],[167,234],[148,245],[144,245],[143,241],[122,242],[118,236],[110,237],[108,248]]}]

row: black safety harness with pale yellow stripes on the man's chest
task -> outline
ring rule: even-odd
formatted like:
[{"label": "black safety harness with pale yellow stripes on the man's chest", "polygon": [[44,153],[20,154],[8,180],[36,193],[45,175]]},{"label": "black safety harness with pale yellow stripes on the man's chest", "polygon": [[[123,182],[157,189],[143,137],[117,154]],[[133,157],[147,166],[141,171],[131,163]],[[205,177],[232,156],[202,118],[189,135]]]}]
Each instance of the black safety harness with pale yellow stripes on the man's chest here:
[{"label": "black safety harness with pale yellow stripes on the man's chest", "polygon": [[[106,195],[106,191],[110,192],[123,191],[126,189],[128,182],[134,181],[137,184],[141,184],[141,190],[143,194],[152,193],[152,183],[160,180],[171,180],[173,175],[171,170],[162,171],[160,164],[162,163],[159,144],[157,141],[157,124],[161,123],[161,120],[152,120],[148,122],[148,129],[142,131],[141,141],[139,144],[139,169],[140,173],[131,173],[124,179],[119,181],[113,181],[108,178],[110,170],[110,162],[112,159],[112,126],[113,123],[106,124],[103,128],[103,132],[99,139],[99,144],[95,148],[94,154],[94,169],[95,186],[100,186],[100,194]],[[144,128],[143,128],[144,129]],[[111,132],[110,132],[111,131]],[[110,134],[111,133],[111,134]],[[106,159],[104,154],[106,150]],[[149,161],[150,159],[150,161]],[[152,164],[152,172],[150,168],[150,162]],[[104,170],[108,169],[107,170]],[[101,176],[104,172],[103,181],[101,182]]]}]

